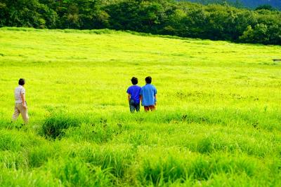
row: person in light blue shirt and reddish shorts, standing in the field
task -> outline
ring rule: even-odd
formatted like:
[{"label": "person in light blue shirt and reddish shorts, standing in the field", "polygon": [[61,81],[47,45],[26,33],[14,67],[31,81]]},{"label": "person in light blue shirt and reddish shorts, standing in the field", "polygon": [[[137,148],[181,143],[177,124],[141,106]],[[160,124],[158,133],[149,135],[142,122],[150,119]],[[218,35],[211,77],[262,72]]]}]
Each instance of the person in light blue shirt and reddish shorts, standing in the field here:
[{"label": "person in light blue shirt and reddish shorts, standing in the field", "polygon": [[141,88],[141,105],[144,106],[145,111],[155,110],[157,102],[157,89],[154,85],[151,84],[151,82],[152,78],[148,76],[147,78],[145,78],[146,85]]}]

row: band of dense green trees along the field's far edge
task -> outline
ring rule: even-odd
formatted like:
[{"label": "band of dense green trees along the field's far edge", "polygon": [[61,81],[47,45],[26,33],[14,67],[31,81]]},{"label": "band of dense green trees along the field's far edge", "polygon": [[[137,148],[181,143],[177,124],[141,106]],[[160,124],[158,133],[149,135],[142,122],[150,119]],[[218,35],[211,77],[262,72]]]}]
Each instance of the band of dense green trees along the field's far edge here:
[{"label": "band of dense green trees along the field's far edge", "polygon": [[0,0],[0,27],[117,29],[281,45],[281,12],[175,0]]}]

